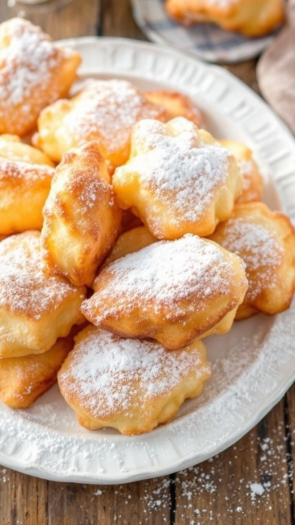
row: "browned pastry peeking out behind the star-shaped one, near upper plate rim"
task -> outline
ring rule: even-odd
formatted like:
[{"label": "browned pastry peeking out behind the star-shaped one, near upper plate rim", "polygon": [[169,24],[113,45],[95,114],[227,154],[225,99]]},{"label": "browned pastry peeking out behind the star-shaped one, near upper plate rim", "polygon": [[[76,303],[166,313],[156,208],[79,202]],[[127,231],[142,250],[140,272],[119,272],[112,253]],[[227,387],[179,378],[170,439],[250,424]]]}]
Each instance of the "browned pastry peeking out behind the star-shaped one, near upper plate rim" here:
[{"label": "browned pastry peeking out behind the star-shaped one, near upper plate rim", "polygon": [[145,91],[144,95],[154,104],[160,104],[166,109],[167,121],[175,117],[185,117],[202,128],[203,119],[201,111],[189,97],[177,91]]}]

